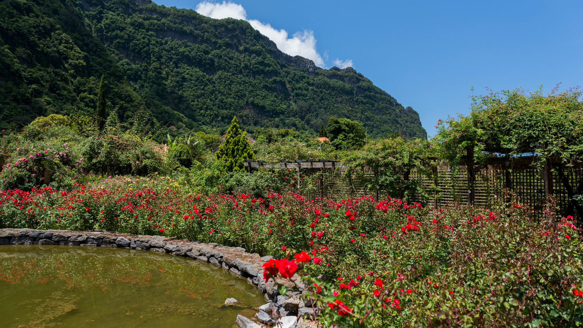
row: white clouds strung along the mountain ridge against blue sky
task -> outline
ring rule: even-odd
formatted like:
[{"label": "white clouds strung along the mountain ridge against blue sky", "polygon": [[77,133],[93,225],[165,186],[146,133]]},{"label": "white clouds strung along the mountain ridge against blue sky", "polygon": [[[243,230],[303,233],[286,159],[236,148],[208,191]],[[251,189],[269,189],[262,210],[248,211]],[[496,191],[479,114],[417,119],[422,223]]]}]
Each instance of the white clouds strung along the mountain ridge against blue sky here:
[{"label": "white clouds strung along the mountain ridge against blue sky", "polygon": [[[324,53],[322,57],[316,50],[316,39],[314,37],[314,32],[311,30],[304,30],[304,32],[296,32],[291,37],[284,29],[275,29],[269,23],[259,22],[257,19],[247,19],[247,12],[243,6],[234,4],[233,2],[223,3],[213,3],[208,1],[203,1],[196,5],[196,12],[201,15],[208,16],[210,18],[222,19],[222,18],[234,18],[234,19],[244,19],[251,24],[251,26],[258,30],[261,34],[272,40],[278,49],[291,56],[300,55],[301,57],[308,58],[314,61],[314,64],[319,67],[325,67],[325,60],[328,60],[328,53]],[[336,62],[340,64],[336,64]],[[352,60],[334,61],[334,64],[340,68],[345,68],[352,66]],[[344,65],[342,67],[342,65]]]}]

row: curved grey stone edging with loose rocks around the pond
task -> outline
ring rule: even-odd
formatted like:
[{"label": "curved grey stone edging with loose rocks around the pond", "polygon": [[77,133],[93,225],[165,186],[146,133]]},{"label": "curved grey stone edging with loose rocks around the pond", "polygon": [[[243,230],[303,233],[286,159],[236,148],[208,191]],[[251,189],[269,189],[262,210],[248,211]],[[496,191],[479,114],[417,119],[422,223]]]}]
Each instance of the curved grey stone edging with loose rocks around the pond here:
[{"label": "curved grey stone edging with loose rocks around the pond", "polygon": [[[263,280],[262,264],[272,256],[247,253],[243,247],[229,247],[217,243],[168,238],[164,236],[130,235],[115,231],[69,231],[36,229],[0,229],[0,245],[61,245],[84,247],[119,247],[143,249],[156,253],[170,253],[175,256],[191,257],[197,261],[214,264],[229,271],[230,274],[246,278],[248,284],[261,289],[265,305],[259,307],[256,315],[264,324],[278,323],[278,327],[310,327],[307,321],[291,320],[293,317],[311,318],[314,316],[312,299],[303,297],[305,292],[287,292],[279,295],[278,286],[272,280]],[[304,284],[297,274],[291,278],[303,290]],[[278,280],[279,284],[293,287],[289,280]],[[269,314],[271,313],[271,315]],[[238,315],[237,324],[241,328],[261,327],[247,317]]]}]

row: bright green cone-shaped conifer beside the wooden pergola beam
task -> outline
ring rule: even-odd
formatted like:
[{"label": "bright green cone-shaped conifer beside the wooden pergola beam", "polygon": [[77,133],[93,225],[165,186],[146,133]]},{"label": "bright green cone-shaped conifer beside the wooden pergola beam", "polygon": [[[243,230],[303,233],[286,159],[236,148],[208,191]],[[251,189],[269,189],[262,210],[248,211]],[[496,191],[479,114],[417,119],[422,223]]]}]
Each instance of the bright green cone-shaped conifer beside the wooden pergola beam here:
[{"label": "bright green cone-shaped conifer beside the wooden pergola beam", "polygon": [[231,127],[227,130],[224,142],[219,146],[216,155],[217,159],[223,162],[223,169],[226,172],[244,171],[245,159],[255,159],[251,144],[241,132],[236,116],[233,117]]}]

